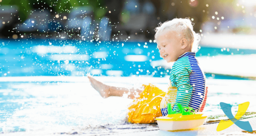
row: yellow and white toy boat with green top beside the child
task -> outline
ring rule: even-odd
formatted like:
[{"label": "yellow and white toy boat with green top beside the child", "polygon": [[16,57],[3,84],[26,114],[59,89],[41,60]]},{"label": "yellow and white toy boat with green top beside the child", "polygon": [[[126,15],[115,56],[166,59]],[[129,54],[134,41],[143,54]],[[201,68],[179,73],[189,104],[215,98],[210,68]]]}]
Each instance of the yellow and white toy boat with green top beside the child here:
[{"label": "yellow and white toy boat with green top beside the child", "polygon": [[[168,115],[156,118],[160,130],[178,131],[194,129],[202,125],[207,116],[195,114],[191,107],[182,107],[180,103],[176,103],[180,112],[172,111],[171,103],[168,103]],[[186,111],[184,110],[186,109]],[[194,111],[194,112],[191,112]]]}]

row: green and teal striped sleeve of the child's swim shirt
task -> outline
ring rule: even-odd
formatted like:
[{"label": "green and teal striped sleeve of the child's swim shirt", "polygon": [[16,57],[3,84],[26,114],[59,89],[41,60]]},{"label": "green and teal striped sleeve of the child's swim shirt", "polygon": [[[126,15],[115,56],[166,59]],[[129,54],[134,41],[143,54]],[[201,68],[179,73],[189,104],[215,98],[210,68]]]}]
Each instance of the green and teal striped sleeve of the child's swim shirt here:
[{"label": "green and teal striped sleeve of the child's swim shirt", "polygon": [[[175,102],[180,103],[183,107],[188,107],[193,86],[190,85],[189,74],[192,72],[188,56],[178,59],[172,66],[170,74],[171,86],[177,88]],[[178,109],[175,104],[173,111]]]}]

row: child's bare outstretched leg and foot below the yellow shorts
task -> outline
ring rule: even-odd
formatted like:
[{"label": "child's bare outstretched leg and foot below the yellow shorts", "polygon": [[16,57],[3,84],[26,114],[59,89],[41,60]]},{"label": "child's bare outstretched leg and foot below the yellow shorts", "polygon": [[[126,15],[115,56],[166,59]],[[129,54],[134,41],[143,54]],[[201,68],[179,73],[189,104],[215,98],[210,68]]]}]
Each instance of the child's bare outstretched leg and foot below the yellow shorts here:
[{"label": "child's bare outstretched leg and foot below the yellow shorts", "polygon": [[136,95],[136,92],[138,92],[138,95],[142,92],[142,90],[140,89],[134,89],[134,88],[127,89],[122,87],[105,85],[92,77],[88,77],[88,78],[89,78],[89,81],[91,82],[91,86],[93,86],[93,88],[97,90],[103,98],[108,98],[110,96],[122,97],[123,94],[129,94],[128,98],[133,99]]}]

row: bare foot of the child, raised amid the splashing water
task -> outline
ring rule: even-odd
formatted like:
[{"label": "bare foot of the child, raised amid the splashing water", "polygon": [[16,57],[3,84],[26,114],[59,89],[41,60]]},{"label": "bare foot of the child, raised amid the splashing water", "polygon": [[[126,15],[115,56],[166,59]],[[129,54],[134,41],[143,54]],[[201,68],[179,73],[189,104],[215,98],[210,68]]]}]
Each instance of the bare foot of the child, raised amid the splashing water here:
[{"label": "bare foot of the child, raised amid the splashing water", "polygon": [[109,97],[109,88],[110,88],[110,86],[105,85],[105,84],[97,81],[93,77],[89,77],[89,76],[87,76],[87,77],[88,77],[88,79],[91,83],[91,86],[93,86],[93,88],[99,92],[101,97],[103,97],[103,98],[108,98]]}]

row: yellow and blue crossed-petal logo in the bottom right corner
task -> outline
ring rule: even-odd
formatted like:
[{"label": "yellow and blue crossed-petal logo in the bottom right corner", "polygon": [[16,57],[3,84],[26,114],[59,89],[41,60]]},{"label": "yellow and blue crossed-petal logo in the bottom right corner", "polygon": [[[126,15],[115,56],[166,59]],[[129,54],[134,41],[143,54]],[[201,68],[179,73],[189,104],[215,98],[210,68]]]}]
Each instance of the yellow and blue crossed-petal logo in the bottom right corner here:
[{"label": "yellow and blue crossed-petal logo in the bottom right corner", "polygon": [[239,120],[247,111],[247,108],[249,106],[250,102],[241,103],[238,105],[238,112],[236,116],[233,116],[231,112],[232,105],[221,102],[219,105],[221,105],[222,111],[226,114],[226,116],[230,119],[227,121],[221,120],[217,126],[217,131],[222,131],[227,129],[232,124],[236,124],[239,128],[248,131],[253,132],[252,126],[249,123],[249,121],[241,121]]}]

